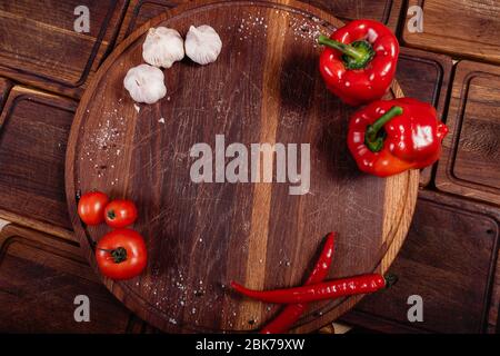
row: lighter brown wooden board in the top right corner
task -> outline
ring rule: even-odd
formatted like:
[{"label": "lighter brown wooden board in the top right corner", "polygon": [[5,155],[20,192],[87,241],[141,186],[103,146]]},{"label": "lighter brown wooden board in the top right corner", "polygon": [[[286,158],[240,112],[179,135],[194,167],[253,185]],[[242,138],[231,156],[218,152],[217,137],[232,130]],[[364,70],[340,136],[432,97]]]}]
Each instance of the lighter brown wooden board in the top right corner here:
[{"label": "lighter brown wooden board in the top right corner", "polygon": [[[500,63],[500,2],[490,0],[409,0],[423,9],[423,32],[404,26],[404,44]],[[407,22],[414,13],[407,14]]]}]

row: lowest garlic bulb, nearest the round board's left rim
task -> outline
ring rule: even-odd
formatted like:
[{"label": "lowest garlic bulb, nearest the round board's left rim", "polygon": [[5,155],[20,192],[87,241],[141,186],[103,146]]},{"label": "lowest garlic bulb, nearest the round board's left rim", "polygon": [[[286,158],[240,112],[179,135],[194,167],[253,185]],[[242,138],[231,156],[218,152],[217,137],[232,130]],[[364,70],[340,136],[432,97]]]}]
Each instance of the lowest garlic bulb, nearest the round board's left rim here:
[{"label": "lowest garlic bulb, nearest the round board's left rim", "polygon": [[154,103],[167,93],[163,72],[149,65],[131,68],[123,79],[123,86],[137,102]]}]

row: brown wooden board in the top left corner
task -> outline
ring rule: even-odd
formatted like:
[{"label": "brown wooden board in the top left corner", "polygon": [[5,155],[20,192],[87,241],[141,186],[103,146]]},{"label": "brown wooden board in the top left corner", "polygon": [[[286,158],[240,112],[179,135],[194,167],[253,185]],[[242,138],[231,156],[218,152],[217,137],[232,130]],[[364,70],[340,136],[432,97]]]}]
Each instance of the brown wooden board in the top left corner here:
[{"label": "brown wooden board in the top left corner", "polygon": [[[89,32],[76,32],[74,9],[89,9]],[[126,0],[0,1],[0,75],[79,97],[112,48]]]}]

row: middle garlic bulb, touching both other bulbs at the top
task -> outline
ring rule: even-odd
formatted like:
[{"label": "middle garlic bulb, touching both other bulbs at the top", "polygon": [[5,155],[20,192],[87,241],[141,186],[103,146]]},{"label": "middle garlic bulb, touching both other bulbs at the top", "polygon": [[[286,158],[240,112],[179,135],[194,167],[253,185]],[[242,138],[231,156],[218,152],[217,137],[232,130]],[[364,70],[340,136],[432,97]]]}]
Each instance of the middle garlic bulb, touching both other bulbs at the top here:
[{"label": "middle garlic bulb, touching both other bulbs at the top", "polygon": [[173,62],[184,58],[182,37],[166,27],[150,28],[142,43],[142,58],[154,67],[172,67]]}]

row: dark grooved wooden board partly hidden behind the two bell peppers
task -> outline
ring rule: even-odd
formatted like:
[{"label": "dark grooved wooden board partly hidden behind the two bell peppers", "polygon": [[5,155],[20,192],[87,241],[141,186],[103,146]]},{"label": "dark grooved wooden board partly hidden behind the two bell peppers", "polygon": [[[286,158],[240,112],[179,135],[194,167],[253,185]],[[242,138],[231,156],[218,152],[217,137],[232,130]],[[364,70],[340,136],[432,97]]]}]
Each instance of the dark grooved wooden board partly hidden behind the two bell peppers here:
[{"label": "dark grooved wooden board partly hidden behind the two bell peppers", "polygon": [[[406,96],[431,103],[438,111],[438,118],[444,120],[452,67],[452,60],[448,56],[402,47],[397,71],[398,82]],[[420,185],[429,185],[431,175],[432,167],[422,169]]]}]

